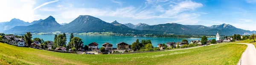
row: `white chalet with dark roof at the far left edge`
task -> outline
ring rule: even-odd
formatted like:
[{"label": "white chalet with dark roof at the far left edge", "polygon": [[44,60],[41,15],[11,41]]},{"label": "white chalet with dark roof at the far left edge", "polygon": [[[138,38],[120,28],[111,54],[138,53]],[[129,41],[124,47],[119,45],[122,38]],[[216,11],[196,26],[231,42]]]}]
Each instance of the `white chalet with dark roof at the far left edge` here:
[{"label": "white chalet with dark roof at the far left edge", "polygon": [[14,35],[4,35],[3,42],[15,46],[25,46],[25,41],[22,38],[16,38]]}]

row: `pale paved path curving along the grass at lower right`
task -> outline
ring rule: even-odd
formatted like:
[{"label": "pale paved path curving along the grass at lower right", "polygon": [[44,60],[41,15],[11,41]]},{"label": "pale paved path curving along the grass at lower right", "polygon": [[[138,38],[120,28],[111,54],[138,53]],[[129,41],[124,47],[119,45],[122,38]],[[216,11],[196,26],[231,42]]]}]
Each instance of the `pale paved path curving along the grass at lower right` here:
[{"label": "pale paved path curving along the grass at lower right", "polygon": [[253,44],[250,43],[238,43],[238,44],[246,44],[247,48],[242,54],[241,59],[239,60],[237,65],[256,65],[256,49]]}]

